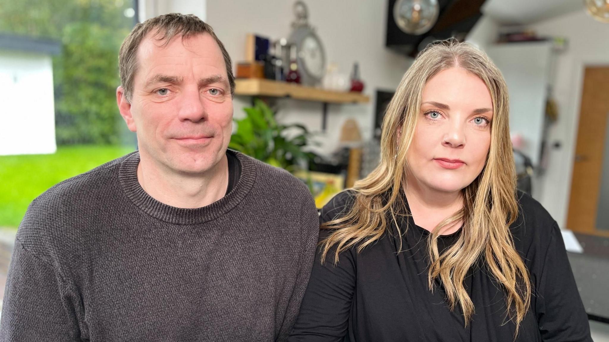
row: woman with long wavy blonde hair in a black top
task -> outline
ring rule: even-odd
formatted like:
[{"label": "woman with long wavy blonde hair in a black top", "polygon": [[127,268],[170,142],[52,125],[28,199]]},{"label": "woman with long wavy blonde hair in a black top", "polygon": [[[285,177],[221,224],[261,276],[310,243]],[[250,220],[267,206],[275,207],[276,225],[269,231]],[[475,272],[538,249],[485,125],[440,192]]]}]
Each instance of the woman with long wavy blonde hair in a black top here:
[{"label": "woman with long wavy blonde hair in a black top", "polygon": [[560,229],[516,192],[508,119],[483,52],[417,57],[379,166],[322,210],[289,341],[591,341]]}]

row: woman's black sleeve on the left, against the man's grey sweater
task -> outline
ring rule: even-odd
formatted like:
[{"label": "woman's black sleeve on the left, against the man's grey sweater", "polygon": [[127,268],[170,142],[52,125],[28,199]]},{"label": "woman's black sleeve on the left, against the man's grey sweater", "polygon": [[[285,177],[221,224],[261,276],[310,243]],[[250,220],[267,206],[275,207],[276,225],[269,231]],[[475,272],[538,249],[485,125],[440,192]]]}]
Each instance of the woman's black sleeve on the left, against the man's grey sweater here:
[{"label": "woman's black sleeve on the left, against the man's grey sweater", "polygon": [[[344,212],[340,209],[346,208],[345,203],[340,199],[335,198],[322,209],[320,217],[322,222],[331,220],[340,212]],[[329,232],[326,230],[320,232],[320,241],[328,235]],[[343,251],[339,255],[339,262],[334,265],[334,251],[336,248],[328,252],[322,265],[320,248],[317,249],[311,279],[305,291],[305,298],[301,304],[296,324],[287,339],[288,342],[343,341],[347,335],[351,302],[353,302],[355,290],[355,256],[351,250]]]}]

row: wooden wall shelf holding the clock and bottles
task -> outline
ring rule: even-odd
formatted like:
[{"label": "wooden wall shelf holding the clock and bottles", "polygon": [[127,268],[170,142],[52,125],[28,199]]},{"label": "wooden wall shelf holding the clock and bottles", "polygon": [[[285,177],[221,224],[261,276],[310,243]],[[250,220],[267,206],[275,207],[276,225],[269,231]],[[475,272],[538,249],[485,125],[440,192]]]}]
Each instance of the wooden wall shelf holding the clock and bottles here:
[{"label": "wooden wall shelf holding the clock and bottles", "polygon": [[331,91],[294,83],[265,79],[236,79],[235,95],[291,97],[323,103],[367,103],[370,97],[359,92]]}]

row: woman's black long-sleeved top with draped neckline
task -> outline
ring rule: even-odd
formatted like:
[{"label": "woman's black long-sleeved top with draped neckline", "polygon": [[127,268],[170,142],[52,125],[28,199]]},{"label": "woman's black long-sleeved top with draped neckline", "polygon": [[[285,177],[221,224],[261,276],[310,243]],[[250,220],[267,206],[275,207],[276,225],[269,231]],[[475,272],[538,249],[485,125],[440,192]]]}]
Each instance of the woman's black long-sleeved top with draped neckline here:
[{"label": "woman's black long-sleeved top with draped neckline", "polygon": [[[342,192],[322,209],[322,222],[343,215],[353,204],[352,194]],[[516,250],[530,272],[534,295],[516,341],[591,341],[590,327],[577,291],[565,245],[557,223],[537,201],[518,194],[518,219],[510,226]],[[475,306],[465,327],[462,311],[451,312],[439,281],[428,288],[430,234],[412,217],[401,219],[403,251],[387,234],[357,253],[343,251],[333,265],[333,251],[320,263],[318,250],[300,315],[288,339],[295,341],[513,341],[515,324],[505,322],[505,295],[480,262],[472,267],[465,287]],[[443,250],[461,230],[438,239]],[[328,231],[320,233],[320,240]]]}]

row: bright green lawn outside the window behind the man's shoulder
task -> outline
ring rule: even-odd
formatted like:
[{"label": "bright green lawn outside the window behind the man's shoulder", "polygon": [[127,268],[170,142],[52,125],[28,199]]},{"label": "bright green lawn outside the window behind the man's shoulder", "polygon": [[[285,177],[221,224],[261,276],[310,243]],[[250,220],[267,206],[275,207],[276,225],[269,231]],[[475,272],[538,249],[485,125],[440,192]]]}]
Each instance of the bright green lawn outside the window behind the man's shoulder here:
[{"label": "bright green lawn outside the window behind the man's shoulder", "polygon": [[132,152],[116,146],[60,146],[53,155],[0,156],[0,227],[16,228],[27,206],[60,181]]}]

